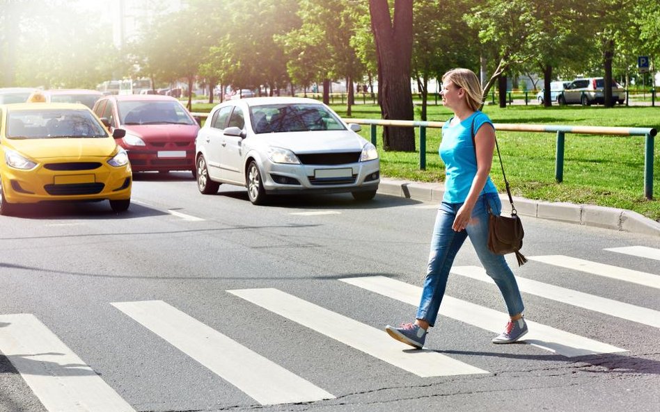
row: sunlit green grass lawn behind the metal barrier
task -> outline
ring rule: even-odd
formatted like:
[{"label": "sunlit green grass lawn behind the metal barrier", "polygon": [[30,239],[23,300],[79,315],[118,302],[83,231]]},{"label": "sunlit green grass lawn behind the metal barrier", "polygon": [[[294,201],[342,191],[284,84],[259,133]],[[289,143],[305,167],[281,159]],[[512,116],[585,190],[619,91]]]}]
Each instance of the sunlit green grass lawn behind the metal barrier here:
[{"label": "sunlit green grass lawn behind the metal barrier", "polygon": [[[208,108],[206,107],[208,106]],[[213,106],[213,105],[210,105]],[[194,110],[210,110],[196,105]],[[332,108],[346,117],[346,106]],[[205,110],[206,109],[206,110]],[[448,120],[451,113],[442,106],[428,106],[427,120]],[[416,106],[416,120],[421,110]],[[602,106],[485,106],[494,123],[563,124],[569,126],[625,126],[660,129],[659,107],[603,108]],[[379,108],[372,104],[352,106],[358,119],[379,119]],[[440,130],[427,129],[426,170],[419,169],[419,153],[384,151],[382,128],[377,129],[377,146],[383,176],[413,181],[441,182],[444,165],[438,156]],[[370,128],[361,135],[370,140]],[[660,148],[655,145],[653,190],[656,200],[644,197],[643,136],[604,136],[566,133],[563,182],[555,181],[556,133],[497,133],[505,171],[515,196],[545,201],[567,201],[624,208],[660,221]],[[419,150],[419,133],[416,132]],[[504,189],[497,158],[491,172],[499,190]]]}]

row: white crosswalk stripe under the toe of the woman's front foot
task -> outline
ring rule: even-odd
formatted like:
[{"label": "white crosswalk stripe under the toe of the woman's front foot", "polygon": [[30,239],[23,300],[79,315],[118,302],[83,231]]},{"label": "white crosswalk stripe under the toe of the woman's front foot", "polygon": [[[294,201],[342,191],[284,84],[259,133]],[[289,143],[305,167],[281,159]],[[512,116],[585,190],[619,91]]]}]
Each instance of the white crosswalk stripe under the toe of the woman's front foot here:
[{"label": "white crosswalk stripe under the toe of the woman's front foot", "polygon": [[488,373],[430,350],[421,350],[410,356],[404,349],[411,347],[393,340],[382,329],[370,327],[281,290],[264,288],[228,292],[420,377]]}]

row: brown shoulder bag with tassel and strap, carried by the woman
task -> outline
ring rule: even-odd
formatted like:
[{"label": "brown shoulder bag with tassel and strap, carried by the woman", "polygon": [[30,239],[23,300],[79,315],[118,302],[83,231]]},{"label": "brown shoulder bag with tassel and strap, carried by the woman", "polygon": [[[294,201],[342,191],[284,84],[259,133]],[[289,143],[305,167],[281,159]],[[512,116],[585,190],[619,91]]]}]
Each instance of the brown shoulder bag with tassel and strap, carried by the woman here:
[{"label": "brown shoulder bag with tassel and strap, carried by the woman", "polygon": [[[472,144],[474,145],[474,155],[477,156],[477,147],[474,142],[474,120],[472,120]],[[525,231],[522,227],[518,212],[513,206],[513,197],[511,196],[511,189],[509,188],[509,181],[504,174],[504,165],[502,163],[502,156],[500,154],[500,147],[495,138],[495,147],[497,147],[497,156],[500,159],[500,166],[502,167],[502,176],[506,186],[507,195],[511,203],[511,217],[495,215],[486,202],[488,210],[488,249],[494,254],[505,255],[514,253],[518,265],[522,266],[527,263],[527,258],[520,253],[522,247],[522,240],[525,236]]]}]

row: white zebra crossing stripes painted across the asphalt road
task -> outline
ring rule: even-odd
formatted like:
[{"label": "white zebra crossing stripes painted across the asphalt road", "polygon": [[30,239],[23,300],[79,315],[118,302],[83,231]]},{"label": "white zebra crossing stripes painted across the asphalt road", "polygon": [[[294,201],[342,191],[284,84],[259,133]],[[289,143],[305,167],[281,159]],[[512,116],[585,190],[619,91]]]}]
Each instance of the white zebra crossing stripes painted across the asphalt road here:
[{"label": "white zebra crossing stripes painted across the asphalt road", "polygon": [[[606,252],[628,254],[639,258],[660,260],[660,249],[650,247],[620,247],[604,249]],[[531,256],[531,261],[542,265],[563,267],[565,270],[597,275],[596,281],[620,282],[622,286],[635,283],[647,288],[660,288],[660,274],[652,274],[586,261],[571,256]],[[456,266],[452,272],[466,281],[493,283],[481,267]],[[602,277],[602,278],[599,278]],[[384,276],[346,277],[338,279],[337,287],[348,294],[370,299],[376,295],[391,299],[392,305],[403,304],[413,308],[419,302],[421,287]],[[549,299],[565,304],[563,310],[591,311],[613,318],[636,322],[639,327],[660,328],[660,311],[636,306],[614,299],[590,295],[527,279],[518,278],[519,288],[528,302],[529,297]],[[493,283],[494,285],[494,283]],[[493,286],[494,287],[494,286]],[[346,351],[358,351],[368,355],[368,361],[396,368],[402,373],[413,374],[420,379],[448,376],[493,374],[496,364],[483,363],[478,356],[441,353],[434,347],[414,350],[391,339],[382,325],[359,322],[337,313],[303,296],[278,288],[227,289],[228,296],[239,298],[245,305],[253,305],[263,316],[291,327],[291,322],[304,327],[322,340],[332,340],[343,345]],[[343,394],[333,393],[323,379],[322,370],[313,370],[306,376],[292,372],[267,358],[258,350],[227,336],[223,331],[208,326],[179,308],[163,300],[112,302],[111,310],[124,316],[126,322],[150,331],[154,339],[164,340],[196,363],[220,377],[235,390],[254,399],[260,405],[317,402],[335,399]],[[529,305],[529,304],[528,304]],[[567,309],[568,308],[568,309]],[[345,313],[349,313],[349,310]],[[228,314],[230,316],[231,314]],[[453,318],[488,333],[484,343],[489,345],[490,333],[499,333],[508,318],[505,312],[496,311],[464,299],[446,295],[441,317]],[[236,316],[234,314],[234,316]],[[601,342],[592,336],[581,336],[575,331],[565,331],[543,324],[541,320],[527,319],[529,333],[524,343],[540,354],[556,354],[564,358],[622,354],[628,348]],[[586,329],[585,329],[586,330]],[[582,331],[582,333],[586,333]],[[267,336],[260,337],[267,339]],[[483,337],[480,337],[483,338]],[[621,342],[615,339],[613,342]],[[536,349],[537,348],[537,349]],[[501,347],[491,351],[505,350]],[[12,363],[49,412],[132,412],[127,403],[111,384],[104,381],[98,371],[63,343],[60,337],[31,314],[0,314],[0,353]],[[305,359],[306,354],[299,354]],[[552,356],[552,355],[550,355]]]}]

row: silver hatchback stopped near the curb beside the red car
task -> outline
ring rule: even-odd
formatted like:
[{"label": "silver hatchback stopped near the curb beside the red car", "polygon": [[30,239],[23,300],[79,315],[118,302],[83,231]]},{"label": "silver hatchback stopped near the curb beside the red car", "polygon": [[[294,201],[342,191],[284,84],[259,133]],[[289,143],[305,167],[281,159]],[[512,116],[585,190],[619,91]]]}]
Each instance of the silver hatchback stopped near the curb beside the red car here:
[{"label": "silver hatchback stopped near the curb beside the red car", "polygon": [[331,108],[313,99],[254,97],[213,108],[196,141],[197,186],[246,186],[253,204],[271,195],[376,195],[378,152]]}]

